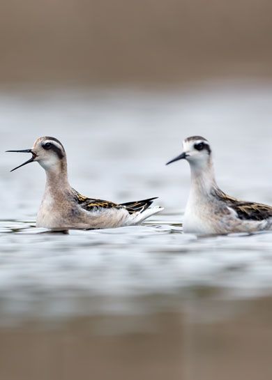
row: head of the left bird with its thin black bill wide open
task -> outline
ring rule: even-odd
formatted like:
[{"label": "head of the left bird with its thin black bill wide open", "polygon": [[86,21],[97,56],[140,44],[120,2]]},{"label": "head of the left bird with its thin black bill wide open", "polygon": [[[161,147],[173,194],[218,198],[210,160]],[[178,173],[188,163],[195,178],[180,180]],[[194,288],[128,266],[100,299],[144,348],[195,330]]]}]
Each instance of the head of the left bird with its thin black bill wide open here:
[{"label": "head of the left bird with its thin black bill wide open", "polygon": [[[18,169],[30,162],[37,161],[45,170],[63,169],[66,167],[66,152],[61,142],[54,137],[39,137],[33,144],[33,148],[22,151],[8,151],[19,153],[31,153],[32,157],[22,165],[15,167]],[[13,170],[11,172],[13,172]]]}]

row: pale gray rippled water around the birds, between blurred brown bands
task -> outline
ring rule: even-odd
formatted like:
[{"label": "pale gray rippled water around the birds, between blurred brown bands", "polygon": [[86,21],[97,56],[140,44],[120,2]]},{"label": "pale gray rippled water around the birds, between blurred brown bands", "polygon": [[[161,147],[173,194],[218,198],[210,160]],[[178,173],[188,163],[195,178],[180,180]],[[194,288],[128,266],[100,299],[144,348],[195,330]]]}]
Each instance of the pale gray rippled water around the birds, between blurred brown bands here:
[{"label": "pale gray rippled water around the birds, between blurred brown bands", "polygon": [[[272,84],[228,83],[172,91],[56,90],[0,94],[0,324],[192,310],[199,299],[272,295],[272,234],[198,238],[181,223],[186,162],[181,141],[211,142],[220,187],[272,204]],[[52,234],[36,229],[45,185],[37,164],[3,153],[40,136],[61,140],[70,183],[89,197],[159,197],[165,211],[142,226]],[[188,307],[187,307],[188,306]],[[226,317],[230,311],[198,314]],[[222,315],[224,314],[224,315]]]}]

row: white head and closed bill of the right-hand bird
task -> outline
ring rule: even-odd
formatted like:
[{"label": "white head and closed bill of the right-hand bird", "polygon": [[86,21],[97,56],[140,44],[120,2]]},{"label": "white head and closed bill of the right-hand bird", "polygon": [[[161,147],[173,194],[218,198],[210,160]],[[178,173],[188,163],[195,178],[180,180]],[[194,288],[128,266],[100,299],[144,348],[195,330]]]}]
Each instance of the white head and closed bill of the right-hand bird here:
[{"label": "white head and closed bill of the right-hand bird", "polygon": [[183,159],[195,169],[204,169],[211,164],[211,147],[208,140],[201,136],[191,136],[183,140],[183,153],[167,162],[167,165]]}]

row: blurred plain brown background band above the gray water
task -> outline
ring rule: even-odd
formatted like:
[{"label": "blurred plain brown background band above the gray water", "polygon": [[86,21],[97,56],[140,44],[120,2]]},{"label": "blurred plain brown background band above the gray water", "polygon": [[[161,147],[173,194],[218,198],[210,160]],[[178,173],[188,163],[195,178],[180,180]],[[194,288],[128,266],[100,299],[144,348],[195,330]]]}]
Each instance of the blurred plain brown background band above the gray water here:
[{"label": "blurred plain brown background band above the gray water", "polygon": [[267,0],[6,1],[0,82],[271,76],[271,12]]}]

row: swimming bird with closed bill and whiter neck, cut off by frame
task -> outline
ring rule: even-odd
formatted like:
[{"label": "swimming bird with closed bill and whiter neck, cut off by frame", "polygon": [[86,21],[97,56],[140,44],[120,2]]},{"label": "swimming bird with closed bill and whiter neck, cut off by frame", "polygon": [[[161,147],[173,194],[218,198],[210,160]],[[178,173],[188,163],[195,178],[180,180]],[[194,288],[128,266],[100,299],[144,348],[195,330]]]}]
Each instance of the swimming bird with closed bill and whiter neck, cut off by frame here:
[{"label": "swimming bird with closed bill and whiter neck, cut off by frame", "polygon": [[190,164],[190,195],[184,214],[183,231],[195,234],[229,234],[272,229],[272,207],[245,202],[222,192],[213,171],[211,145],[201,136],[183,141],[177,160]]}]

